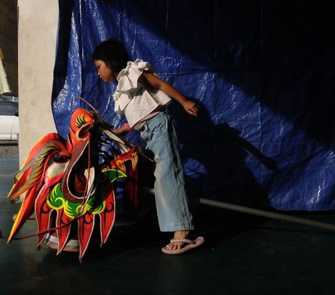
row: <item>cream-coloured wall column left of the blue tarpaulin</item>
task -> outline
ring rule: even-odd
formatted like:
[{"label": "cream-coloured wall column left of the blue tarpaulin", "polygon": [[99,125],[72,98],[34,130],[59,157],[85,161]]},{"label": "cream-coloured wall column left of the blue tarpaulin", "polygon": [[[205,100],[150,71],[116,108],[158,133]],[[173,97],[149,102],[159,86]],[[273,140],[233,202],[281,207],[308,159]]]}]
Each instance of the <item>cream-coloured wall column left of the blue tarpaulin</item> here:
[{"label": "cream-coloured wall column left of the blue tarpaulin", "polygon": [[20,165],[34,144],[55,132],[51,110],[58,1],[19,0]]}]

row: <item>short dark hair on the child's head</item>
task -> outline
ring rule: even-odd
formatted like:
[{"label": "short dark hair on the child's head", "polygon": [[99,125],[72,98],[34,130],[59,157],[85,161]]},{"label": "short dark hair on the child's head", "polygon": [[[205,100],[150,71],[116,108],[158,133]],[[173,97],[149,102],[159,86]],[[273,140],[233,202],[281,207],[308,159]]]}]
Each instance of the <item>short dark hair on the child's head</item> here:
[{"label": "short dark hair on the child's head", "polygon": [[101,59],[114,72],[119,73],[126,68],[129,55],[124,45],[116,38],[110,38],[100,43],[92,55],[94,61]]}]

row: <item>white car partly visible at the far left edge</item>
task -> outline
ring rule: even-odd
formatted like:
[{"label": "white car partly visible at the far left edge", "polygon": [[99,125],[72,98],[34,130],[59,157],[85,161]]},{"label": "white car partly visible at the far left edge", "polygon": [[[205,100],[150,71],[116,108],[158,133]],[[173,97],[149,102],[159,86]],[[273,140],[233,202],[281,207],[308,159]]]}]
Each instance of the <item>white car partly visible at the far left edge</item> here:
[{"label": "white car partly visible at the far left edge", "polygon": [[0,100],[0,140],[17,141],[19,137],[19,104]]}]

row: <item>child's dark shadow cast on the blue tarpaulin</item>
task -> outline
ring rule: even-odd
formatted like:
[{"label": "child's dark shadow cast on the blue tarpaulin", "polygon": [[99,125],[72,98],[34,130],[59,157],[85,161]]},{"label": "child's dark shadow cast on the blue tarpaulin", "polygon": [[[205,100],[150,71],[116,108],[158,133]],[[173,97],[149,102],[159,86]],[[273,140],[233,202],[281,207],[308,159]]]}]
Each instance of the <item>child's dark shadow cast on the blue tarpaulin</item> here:
[{"label": "child's dark shadow cast on the blue tarpaulin", "polygon": [[[272,173],[278,172],[276,162],[263,155],[240,131],[228,123],[215,125],[207,109],[200,106],[197,118],[189,116],[177,103],[170,105],[170,114],[178,126],[181,156],[188,172],[186,183],[191,198],[216,199],[242,206],[269,206],[268,192],[259,184],[246,159],[253,157],[255,165],[262,165]],[[179,114],[184,112],[183,114]],[[195,148],[196,147],[196,148]],[[191,172],[190,166],[200,167]]]}]

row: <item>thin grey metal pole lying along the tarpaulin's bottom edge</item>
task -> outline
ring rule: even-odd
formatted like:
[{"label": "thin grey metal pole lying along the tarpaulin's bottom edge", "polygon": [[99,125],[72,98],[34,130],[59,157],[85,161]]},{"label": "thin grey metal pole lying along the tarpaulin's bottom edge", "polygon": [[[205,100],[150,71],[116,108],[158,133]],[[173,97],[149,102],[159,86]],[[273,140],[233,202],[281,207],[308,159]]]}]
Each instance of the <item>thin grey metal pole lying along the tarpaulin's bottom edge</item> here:
[{"label": "thin grey metal pole lying along the tarpaulin's bottom edge", "polygon": [[335,230],[335,225],[325,223],[325,222],[319,222],[315,220],[309,220],[309,219],[304,219],[304,218],[299,218],[299,217],[294,217],[290,215],[285,215],[281,213],[275,213],[275,212],[269,212],[269,211],[264,211],[260,209],[253,209],[245,206],[239,206],[239,205],[234,205],[234,204],[228,204],[224,202],[218,202],[214,201],[212,199],[199,199],[200,204],[207,205],[207,206],[214,206],[218,208],[223,208],[223,209],[228,209],[232,211],[238,211],[242,213],[248,213],[252,215],[258,215],[262,217],[267,217],[267,218],[272,218],[272,219],[278,219],[278,220],[285,220],[288,222],[294,222],[294,223],[299,223],[301,225],[309,225],[311,227],[320,227],[322,229],[329,229],[334,231]]}]

